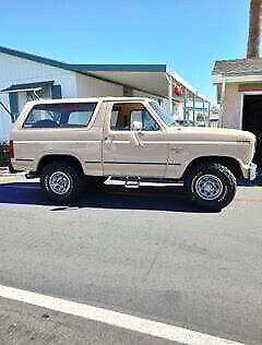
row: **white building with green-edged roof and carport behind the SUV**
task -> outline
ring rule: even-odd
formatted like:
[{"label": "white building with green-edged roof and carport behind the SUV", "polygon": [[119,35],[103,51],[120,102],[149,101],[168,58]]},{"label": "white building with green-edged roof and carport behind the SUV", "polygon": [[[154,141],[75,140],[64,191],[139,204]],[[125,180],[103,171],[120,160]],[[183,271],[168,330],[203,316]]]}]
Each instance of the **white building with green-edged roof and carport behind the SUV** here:
[{"label": "white building with green-edged roof and carport behind the SUV", "polygon": [[28,100],[92,96],[152,97],[177,118],[184,117],[188,102],[209,106],[166,64],[69,64],[0,47],[0,141],[8,140],[11,118]]}]

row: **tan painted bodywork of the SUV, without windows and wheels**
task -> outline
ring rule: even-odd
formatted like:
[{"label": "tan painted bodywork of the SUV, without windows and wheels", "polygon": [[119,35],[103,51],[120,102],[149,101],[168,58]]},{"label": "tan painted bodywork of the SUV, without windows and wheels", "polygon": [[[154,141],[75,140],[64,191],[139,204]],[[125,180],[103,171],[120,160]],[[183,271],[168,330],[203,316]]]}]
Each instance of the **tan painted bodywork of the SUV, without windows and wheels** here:
[{"label": "tan painted bodywork of the SUV, without windows and wheels", "polygon": [[[235,91],[227,90],[227,95]],[[187,166],[203,156],[233,157],[245,177],[254,153],[254,135],[249,132],[214,128],[167,127],[148,106],[148,98],[100,97],[56,99],[28,103],[15,127],[14,141],[17,170],[36,171],[46,155],[71,155],[79,159],[86,175],[143,176],[181,178]],[[29,110],[36,104],[98,102],[93,119],[83,129],[23,129]],[[114,103],[141,103],[158,122],[157,131],[111,131]],[[138,145],[138,142],[141,145]],[[26,160],[28,159],[28,160]]]}]

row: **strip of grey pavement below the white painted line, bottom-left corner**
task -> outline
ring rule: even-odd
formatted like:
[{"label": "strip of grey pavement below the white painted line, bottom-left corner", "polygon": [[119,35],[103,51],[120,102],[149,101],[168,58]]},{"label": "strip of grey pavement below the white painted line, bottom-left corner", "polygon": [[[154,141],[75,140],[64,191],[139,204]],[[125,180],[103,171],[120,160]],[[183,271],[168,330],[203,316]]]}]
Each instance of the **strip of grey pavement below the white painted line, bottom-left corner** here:
[{"label": "strip of grey pavement below the white painted line, bottom-left corner", "polygon": [[178,344],[105,323],[0,298],[0,344]]}]

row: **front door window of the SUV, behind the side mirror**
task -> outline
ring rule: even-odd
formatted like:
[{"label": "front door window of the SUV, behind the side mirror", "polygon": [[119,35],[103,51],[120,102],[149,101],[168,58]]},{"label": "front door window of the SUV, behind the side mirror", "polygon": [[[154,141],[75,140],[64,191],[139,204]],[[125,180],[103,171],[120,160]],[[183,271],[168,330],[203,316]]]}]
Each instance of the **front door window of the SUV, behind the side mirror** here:
[{"label": "front door window of the SUV, behind the side mirror", "polygon": [[145,109],[143,104],[115,104],[111,111],[110,130],[130,131],[134,121],[142,122],[143,131],[159,130],[159,126]]}]

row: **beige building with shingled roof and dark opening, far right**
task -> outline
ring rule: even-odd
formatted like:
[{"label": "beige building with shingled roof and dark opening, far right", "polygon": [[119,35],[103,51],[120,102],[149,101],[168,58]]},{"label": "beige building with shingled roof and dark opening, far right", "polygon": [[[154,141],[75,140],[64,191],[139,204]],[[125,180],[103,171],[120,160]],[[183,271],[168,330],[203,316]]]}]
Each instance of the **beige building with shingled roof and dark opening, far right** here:
[{"label": "beige building with shingled roof and dark opening, far right", "polygon": [[212,74],[219,126],[254,133],[258,160],[262,157],[262,59],[216,61]]}]

